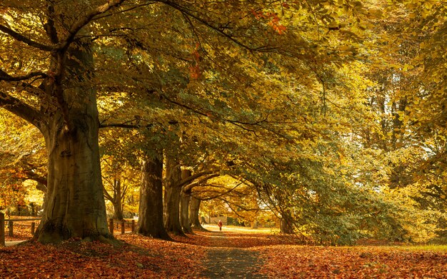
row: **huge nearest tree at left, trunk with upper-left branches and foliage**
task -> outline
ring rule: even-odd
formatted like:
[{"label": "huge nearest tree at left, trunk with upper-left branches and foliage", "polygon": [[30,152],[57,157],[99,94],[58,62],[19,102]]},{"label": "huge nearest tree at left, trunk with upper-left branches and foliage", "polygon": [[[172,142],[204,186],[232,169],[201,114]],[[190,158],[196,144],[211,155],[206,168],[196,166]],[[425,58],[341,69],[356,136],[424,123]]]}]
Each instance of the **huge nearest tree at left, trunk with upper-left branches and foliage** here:
[{"label": "huge nearest tree at left, trunk with upper-left branches and foliage", "polygon": [[[3,51],[34,51],[31,59],[16,52],[2,62],[0,79],[6,86],[0,92],[0,105],[39,128],[45,139],[47,201],[36,233],[43,243],[70,237],[105,241],[109,234],[99,165],[96,90],[91,86],[94,53],[91,41],[82,34],[89,33],[95,16],[122,2],[96,7],[86,2],[74,8],[48,1],[44,9],[31,2],[17,9],[11,2],[3,8],[7,14],[0,24]],[[75,19],[74,9],[87,12]],[[33,14],[40,14],[44,22],[33,19]],[[29,28],[36,31],[24,35]],[[14,67],[14,59],[25,67]],[[34,59],[39,63],[34,64]],[[10,73],[4,71],[8,65],[13,66]]]}]

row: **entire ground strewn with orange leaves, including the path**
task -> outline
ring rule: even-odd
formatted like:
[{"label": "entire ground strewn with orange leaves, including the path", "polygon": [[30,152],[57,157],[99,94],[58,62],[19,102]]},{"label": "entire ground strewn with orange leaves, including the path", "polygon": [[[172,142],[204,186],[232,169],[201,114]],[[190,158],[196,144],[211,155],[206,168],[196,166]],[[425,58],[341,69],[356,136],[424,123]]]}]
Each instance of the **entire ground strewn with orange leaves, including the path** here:
[{"label": "entire ground strewn with orange leaves, including the path", "polygon": [[[213,227],[209,227],[214,229]],[[0,278],[445,278],[431,248],[296,245],[259,230],[197,231],[175,241],[126,233],[120,248],[68,240],[0,248]],[[17,238],[14,238],[16,240]]]}]

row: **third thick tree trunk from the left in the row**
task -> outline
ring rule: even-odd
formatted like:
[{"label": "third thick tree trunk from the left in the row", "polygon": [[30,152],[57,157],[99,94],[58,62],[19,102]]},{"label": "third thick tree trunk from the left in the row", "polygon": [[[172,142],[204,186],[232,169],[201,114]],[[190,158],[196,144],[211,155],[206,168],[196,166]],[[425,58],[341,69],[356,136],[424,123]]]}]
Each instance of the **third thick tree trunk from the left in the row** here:
[{"label": "third thick tree trunk from the left in the row", "polygon": [[181,186],[180,162],[176,158],[166,156],[166,202],[164,208],[166,230],[174,235],[184,235],[180,224],[180,193]]}]

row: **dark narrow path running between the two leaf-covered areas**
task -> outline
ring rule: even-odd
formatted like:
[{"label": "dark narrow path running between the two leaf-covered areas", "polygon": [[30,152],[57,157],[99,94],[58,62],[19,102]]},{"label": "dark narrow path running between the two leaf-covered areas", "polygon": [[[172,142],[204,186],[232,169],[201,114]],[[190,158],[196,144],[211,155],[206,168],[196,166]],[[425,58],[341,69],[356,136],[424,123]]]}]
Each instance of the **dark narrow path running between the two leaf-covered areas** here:
[{"label": "dark narrow path running between the two leaf-covered areas", "polygon": [[211,248],[204,263],[205,278],[266,278],[256,273],[263,264],[258,253],[248,248],[227,247],[225,233],[216,233],[210,239]]}]

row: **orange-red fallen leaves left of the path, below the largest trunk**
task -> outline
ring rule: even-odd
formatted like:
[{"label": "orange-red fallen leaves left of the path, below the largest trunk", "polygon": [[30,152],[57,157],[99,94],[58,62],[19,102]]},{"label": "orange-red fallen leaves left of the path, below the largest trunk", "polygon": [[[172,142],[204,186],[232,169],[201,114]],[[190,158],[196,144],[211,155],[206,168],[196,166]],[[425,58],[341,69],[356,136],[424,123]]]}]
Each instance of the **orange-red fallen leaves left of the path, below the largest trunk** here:
[{"label": "orange-red fallen leaves left of the path, below the largest trunk", "polygon": [[[184,243],[119,235],[121,248],[69,240],[0,248],[0,278],[184,278],[203,268],[203,249]],[[32,255],[32,257],[30,257]]]}]

